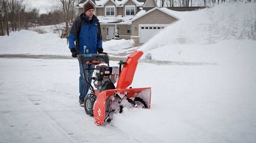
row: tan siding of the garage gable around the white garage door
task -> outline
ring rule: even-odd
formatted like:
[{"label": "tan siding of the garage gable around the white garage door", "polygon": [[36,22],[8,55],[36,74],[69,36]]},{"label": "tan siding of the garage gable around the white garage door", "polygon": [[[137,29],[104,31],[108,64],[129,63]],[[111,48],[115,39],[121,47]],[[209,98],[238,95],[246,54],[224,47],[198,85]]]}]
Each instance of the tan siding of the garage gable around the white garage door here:
[{"label": "tan siding of the garage gable around the white garage door", "polygon": [[154,11],[147,13],[146,15],[136,19],[132,22],[132,36],[139,36],[139,24],[170,24],[178,19],[155,9]]}]

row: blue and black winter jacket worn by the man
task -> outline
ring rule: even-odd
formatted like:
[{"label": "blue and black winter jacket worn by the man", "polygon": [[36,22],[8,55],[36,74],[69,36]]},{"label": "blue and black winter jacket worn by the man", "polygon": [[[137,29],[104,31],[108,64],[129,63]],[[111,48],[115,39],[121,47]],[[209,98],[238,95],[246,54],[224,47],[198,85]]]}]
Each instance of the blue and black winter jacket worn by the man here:
[{"label": "blue and black winter jacket worn by the man", "polygon": [[[76,45],[74,44],[75,41]],[[68,35],[68,43],[70,50],[76,48],[78,53],[97,53],[97,49],[102,49],[99,19],[93,15],[90,23],[85,13],[82,13],[72,25]]]}]

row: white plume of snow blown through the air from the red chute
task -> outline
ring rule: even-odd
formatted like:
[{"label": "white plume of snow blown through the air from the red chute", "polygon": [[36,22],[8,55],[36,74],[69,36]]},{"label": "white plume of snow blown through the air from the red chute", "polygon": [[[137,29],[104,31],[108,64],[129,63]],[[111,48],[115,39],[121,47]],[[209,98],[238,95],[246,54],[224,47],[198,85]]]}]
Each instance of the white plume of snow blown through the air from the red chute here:
[{"label": "white plume of snow blown through the air from the red chute", "polygon": [[194,12],[165,9],[179,18],[149,40],[141,50],[169,44],[213,44],[220,40],[256,40],[256,5],[222,4]]}]

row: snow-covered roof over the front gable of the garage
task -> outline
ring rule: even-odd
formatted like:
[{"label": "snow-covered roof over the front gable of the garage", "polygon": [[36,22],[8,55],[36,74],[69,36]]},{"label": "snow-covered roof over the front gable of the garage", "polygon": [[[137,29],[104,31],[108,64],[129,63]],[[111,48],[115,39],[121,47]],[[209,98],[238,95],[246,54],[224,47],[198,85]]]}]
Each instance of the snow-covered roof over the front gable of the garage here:
[{"label": "snow-covered roof over the front gable of the garage", "polygon": [[158,7],[155,7],[155,8],[150,9],[149,11],[141,10],[142,12],[140,12],[140,13],[138,12],[137,14],[139,14],[139,15],[136,14],[136,15],[134,16],[134,18],[130,20],[130,22],[135,21],[136,19],[141,18],[142,16],[146,15],[147,13],[150,13],[150,12],[152,12],[152,11],[155,11],[156,9],[158,9],[159,11],[162,11],[162,12],[164,12],[164,13],[166,13],[166,14],[172,16],[173,18],[176,18],[176,19],[179,20],[179,18],[177,18],[176,16],[173,15],[173,11],[172,11],[172,10],[167,9],[167,8],[158,8]]}]

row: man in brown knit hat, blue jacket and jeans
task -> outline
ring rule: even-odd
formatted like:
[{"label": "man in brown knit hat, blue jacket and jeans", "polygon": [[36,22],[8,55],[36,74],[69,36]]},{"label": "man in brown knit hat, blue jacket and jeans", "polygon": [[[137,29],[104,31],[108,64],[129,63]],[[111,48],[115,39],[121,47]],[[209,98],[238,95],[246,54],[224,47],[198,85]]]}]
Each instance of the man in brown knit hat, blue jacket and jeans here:
[{"label": "man in brown knit hat, blue jacket and jeans", "polygon": [[[76,41],[76,45],[74,42]],[[68,35],[69,48],[72,53],[72,57],[77,57],[81,53],[103,53],[102,48],[102,36],[100,30],[99,19],[94,15],[94,6],[87,2],[84,5],[84,13],[77,18]],[[83,66],[86,69],[94,68],[90,64],[79,63],[80,77],[79,77],[79,104],[84,104],[84,97],[88,93],[89,85],[86,83],[83,77]],[[91,77],[93,76],[93,70],[86,70],[88,81],[91,83]]]}]

